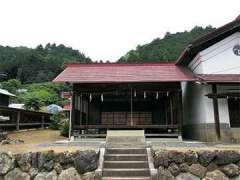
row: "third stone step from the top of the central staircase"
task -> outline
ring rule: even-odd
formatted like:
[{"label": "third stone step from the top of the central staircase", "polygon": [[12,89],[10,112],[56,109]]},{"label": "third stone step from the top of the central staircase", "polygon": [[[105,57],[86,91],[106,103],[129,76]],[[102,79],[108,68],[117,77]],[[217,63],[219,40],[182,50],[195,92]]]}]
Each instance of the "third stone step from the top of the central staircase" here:
[{"label": "third stone step from the top of the central staircase", "polygon": [[149,168],[148,161],[105,161],[104,168]]}]

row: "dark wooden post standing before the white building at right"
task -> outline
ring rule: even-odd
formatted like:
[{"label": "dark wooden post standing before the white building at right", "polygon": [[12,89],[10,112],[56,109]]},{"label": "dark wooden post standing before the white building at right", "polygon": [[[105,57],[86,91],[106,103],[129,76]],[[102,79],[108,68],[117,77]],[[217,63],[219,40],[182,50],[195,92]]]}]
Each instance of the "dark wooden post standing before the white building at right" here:
[{"label": "dark wooden post standing before the white building at right", "polygon": [[[217,94],[217,85],[212,85],[212,93]],[[213,112],[214,112],[214,121],[215,121],[215,130],[217,139],[220,140],[221,132],[220,132],[220,121],[219,121],[219,109],[218,109],[218,99],[216,97],[213,98]]]}]

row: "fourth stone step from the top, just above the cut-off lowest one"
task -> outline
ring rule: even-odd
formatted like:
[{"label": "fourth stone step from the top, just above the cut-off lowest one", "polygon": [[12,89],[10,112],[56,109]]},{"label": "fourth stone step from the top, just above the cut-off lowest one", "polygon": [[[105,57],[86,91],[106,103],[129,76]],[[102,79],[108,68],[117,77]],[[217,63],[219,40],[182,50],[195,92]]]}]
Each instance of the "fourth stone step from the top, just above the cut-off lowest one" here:
[{"label": "fourth stone step from the top, just above the cut-off lowest one", "polygon": [[138,177],[138,176],[150,176],[149,168],[139,168],[139,169],[103,169],[104,177]]}]

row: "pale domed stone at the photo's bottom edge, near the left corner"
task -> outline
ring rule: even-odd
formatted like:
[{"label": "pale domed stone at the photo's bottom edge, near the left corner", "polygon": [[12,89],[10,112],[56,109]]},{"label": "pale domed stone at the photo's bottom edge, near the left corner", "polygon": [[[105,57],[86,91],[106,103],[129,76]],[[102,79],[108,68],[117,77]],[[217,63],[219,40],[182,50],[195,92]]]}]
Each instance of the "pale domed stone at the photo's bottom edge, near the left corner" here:
[{"label": "pale domed stone at the photo's bottom edge, near the left corner", "polygon": [[26,172],[22,172],[19,168],[15,168],[4,176],[4,180],[30,180],[30,176]]}]

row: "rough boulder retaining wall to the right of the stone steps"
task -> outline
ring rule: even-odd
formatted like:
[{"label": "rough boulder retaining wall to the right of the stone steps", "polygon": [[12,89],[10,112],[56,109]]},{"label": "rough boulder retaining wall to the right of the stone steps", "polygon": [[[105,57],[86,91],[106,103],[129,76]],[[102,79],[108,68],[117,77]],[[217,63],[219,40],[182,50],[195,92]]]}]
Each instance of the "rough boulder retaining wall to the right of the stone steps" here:
[{"label": "rough boulder retaining wall to the right of the stone steps", "polygon": [[153,152],[159,180],[240,180],[237,151]]}]

